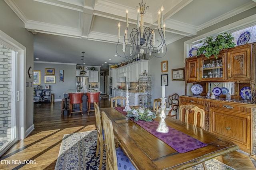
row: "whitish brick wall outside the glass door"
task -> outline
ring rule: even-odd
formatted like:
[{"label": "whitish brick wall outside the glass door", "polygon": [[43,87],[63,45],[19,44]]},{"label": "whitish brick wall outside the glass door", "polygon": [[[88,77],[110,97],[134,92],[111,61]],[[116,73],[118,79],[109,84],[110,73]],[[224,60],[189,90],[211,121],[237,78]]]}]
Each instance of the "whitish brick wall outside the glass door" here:
[{"label": "whitish brick wall outside the glass door", "polygon": [[0,45],[0,146],[11,139],[12,53]]}]

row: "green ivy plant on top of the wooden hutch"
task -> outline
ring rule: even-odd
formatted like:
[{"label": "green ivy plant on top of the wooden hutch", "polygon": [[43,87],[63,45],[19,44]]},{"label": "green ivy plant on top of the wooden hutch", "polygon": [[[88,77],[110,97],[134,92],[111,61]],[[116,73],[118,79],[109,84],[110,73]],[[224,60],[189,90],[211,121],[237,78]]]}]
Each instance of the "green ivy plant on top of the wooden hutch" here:
[{"label": "green ivy plant on top of the wooden hutch", "polygon": [[[215,39],[211,36],[206,37],[202,47],[198,48],[197,56],[204,54],[207,58],[212,55],[214,55],[215,58],[218,58],[218,54],[222,49],[232,48],[236,45],[232,40],[234,40],[234,37],[226,32],[219,34]],[[202,41],[200,41],[200,43],[202,43]]]}]

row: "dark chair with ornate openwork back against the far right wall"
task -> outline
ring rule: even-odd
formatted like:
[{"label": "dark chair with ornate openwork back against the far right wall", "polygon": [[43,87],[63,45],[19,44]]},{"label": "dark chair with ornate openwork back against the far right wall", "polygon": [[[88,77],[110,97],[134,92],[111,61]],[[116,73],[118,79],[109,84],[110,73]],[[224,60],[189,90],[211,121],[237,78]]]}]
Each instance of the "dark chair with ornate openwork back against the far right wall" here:
[{"label": "dark chair with ornate openwork back against the far right wall", "polygon": [[179,107],[179,95],[174,93],[173,95],[168,96],[168,107],[166,107],[166,115],[170,117],[175,117],[177,119],[177,111]]}]

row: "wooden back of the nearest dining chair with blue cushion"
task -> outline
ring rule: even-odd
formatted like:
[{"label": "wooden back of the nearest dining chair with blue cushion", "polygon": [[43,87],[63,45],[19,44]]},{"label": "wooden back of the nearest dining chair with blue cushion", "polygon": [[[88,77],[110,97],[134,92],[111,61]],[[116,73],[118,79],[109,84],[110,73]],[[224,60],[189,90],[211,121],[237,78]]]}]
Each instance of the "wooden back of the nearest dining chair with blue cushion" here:
[{"label": "wooden back of the nearest dining chair with blue cushion", "polygon": [[105,112],[102,112],[102,123],[106,143],[106,169],[117,170],[116,147],[114,142],[114,131],[111,120]]}]

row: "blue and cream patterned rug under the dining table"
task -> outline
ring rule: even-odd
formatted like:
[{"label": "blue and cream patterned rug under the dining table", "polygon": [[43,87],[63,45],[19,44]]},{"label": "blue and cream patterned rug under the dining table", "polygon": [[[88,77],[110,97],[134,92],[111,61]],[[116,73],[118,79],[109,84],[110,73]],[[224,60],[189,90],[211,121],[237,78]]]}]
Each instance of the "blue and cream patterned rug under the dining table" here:
[{"label": "blue and cream patterned rug under the dining table", "polygon": [[[60,146],[55,170],[98,170],[100,151],[96,156],[96,147],[96,130],[65,134]],[[105,152],[103,159],[106,159]],[[216,159],[208,160],[205,164],[207,170],[234,170]],[[102,169],[106,170],[106,162],[103,162]],[[202,164],[198,164],[186,170],[204,170],[204,168]]]}]

